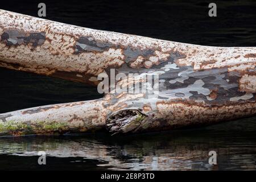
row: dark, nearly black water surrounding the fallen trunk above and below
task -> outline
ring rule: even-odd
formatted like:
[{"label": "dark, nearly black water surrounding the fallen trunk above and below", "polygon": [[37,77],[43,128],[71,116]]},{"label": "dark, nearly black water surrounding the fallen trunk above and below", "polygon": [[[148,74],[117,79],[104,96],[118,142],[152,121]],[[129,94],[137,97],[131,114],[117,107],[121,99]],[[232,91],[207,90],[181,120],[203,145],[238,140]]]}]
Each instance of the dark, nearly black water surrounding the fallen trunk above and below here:
[{"label": "dark, nearly black water surrounding the fallen trunk above and below", "polygon": [[[208,46],[256,46],[256,2],[44,1],[47,19]],[[0,9],[37,15],[38,1],[1,2]],[[102,97],[83,84],[0,68],[0,113]],[[167,133],[111,137],[0,138],[0,169],[255,170],[256,117]],[[217,152],[217,165],[208,152]],[[47,164],[38,165],[38,151]]]}]

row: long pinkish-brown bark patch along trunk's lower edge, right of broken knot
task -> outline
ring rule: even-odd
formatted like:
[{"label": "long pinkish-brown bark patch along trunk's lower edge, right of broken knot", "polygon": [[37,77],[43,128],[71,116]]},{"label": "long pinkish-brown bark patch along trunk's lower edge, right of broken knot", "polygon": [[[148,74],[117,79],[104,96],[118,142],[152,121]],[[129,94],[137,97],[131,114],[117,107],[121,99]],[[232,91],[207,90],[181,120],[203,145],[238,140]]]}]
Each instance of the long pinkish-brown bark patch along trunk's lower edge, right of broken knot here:
[{"label": "long pinkish-brown bark patch along trunk's lower edge, right of broken knot", "polygon": [[[191,101],[167,101],[158,102],[157,106],[159,117],[166,119],[164,125],[167,127],[208,125],[209,123],[232,120],[237,117],[243,117],[243,115],[251,116],[256,113],[255,102],[242,104],[236,102],[222,106],[205,106]],[[179,112],[175,110],[179,110]]]}]

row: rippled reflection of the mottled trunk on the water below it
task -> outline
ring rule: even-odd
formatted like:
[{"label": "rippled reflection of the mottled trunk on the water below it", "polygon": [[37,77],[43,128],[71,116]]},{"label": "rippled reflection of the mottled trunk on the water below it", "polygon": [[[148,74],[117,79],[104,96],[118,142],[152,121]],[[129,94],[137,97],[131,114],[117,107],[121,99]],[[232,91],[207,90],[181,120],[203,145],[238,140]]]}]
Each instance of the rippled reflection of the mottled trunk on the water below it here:
[{"label": "rippled reflection of the mottled trunk on the water below it", "polygon": [[[201,129],[125,137],[97,134],[0,138],[0,154],[24,158],[46,151],[47,160],[68,158],[69,163],[59,165],[81,163],[80,169],[88,167],[89,160],[96,169],[255,169],[255,131],[256,118],[248,118]],[[217,152],[216,166],[208,163],[211,150]]]}]

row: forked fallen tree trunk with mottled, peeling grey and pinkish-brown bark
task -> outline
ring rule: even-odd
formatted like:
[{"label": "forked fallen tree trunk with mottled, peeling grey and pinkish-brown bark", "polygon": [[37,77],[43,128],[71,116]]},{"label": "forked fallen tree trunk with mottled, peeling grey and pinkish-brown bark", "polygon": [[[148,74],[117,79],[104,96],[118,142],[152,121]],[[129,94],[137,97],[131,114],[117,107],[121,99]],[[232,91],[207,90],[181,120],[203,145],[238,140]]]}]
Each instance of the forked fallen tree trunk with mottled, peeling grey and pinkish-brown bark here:
[{"label": "forked fallen tree trunk with mottled, peeling grey and pinkish-brown bark", "polygon": [[[110,92],[100,100],[0,114],[1,135],[163,131],[256,113],[255,47],[197,46],[5,10],[0,35],[0,67],[98,86],[102,73],[115,78],[114,89],[104,88]],[[136,84],[138,90],[148,84],[144,76],[157,81],[136,92]]]}]

